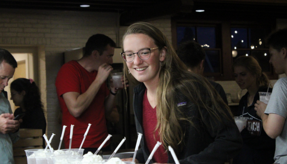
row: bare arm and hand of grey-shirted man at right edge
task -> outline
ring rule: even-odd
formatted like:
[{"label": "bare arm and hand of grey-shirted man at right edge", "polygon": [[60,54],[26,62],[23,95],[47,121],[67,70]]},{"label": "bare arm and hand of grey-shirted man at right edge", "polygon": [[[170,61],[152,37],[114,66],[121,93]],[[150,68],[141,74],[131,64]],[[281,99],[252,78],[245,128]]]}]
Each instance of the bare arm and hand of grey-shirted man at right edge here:
[{"label": "bare arm and hand of grey-shirted man at right edge", "polygon": [[254,109],[257,111],[256,114],[262,119],[263,128],[266,134],[272,139],[278,137],[283,130],[286,119],[283,116],[274,113],[266,115],[264,112],[267,105],[264,102],[258,100],[254,106]]}]

